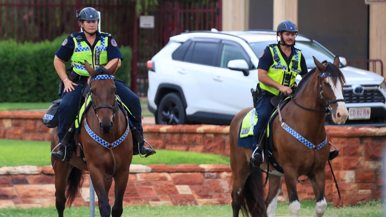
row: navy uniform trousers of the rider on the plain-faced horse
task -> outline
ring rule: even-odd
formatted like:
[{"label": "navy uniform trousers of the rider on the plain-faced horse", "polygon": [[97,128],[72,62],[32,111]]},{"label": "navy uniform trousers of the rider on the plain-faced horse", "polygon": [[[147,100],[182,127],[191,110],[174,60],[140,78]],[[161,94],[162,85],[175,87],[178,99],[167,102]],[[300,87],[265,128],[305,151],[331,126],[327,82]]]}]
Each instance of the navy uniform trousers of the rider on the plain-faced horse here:
[{"label": "navy uniform trousers of the rider on the plain-faced horse", "polygon": [[[136,121],[132,120],[132,123],[135,127],[137,127],[138,131],[143,136],[143,129],[141,124],[142,110],[138,96],[126,86],[125,82],[114,80],[114,83],[115,87],[117,88],[117,95],[127,106],[127,108],[129,108],[135,119],[137,119]],[[75,90],[62,93],[62,101],[59,105],[59,142],[62,141],[64,135],[66,134],[67,128],[72,124],[71,121],[73,120],[73,117],[78,112],[78,105],[82,96],[83,86],[81,86],[79,82],[76,84],[78,84],[78,86],[74,86]]]}]

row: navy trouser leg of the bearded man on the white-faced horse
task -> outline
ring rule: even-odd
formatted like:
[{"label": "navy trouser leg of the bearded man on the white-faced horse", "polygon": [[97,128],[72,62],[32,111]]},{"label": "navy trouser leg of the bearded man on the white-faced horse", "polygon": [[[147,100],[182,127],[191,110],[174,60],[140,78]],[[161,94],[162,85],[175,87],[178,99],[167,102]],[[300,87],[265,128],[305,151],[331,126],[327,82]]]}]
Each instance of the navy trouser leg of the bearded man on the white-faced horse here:
[{"label": "navy trouser leg of the bearded man on the white-faced horse", "polygon": [[252,151],[255,150],[256,144],[259,142],[259,137],[263,128],[266,126],[266,123],[271,115],[273,106],[271,104],[271,98],[273,95],[261,95],[257,99],[256,103],[256,113],[257,113],[257,123],[253,128],[253,140],[251,144]]}]

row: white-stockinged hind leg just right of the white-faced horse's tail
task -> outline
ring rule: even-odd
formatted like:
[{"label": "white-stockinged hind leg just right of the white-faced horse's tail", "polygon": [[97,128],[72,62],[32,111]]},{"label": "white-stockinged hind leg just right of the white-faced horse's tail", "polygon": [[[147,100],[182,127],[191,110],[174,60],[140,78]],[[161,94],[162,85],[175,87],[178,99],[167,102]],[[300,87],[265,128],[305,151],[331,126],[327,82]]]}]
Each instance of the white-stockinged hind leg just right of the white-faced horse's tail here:
[{"label": "white-stockinged hind leg just right of the white-faced horse's tail", "polygon": [[269,173],[269,190],[266,198],[267,215],[275,217],[276,207],[278,205],[278,197],[281,189],[281,181],[283,177],[272,175]]}]

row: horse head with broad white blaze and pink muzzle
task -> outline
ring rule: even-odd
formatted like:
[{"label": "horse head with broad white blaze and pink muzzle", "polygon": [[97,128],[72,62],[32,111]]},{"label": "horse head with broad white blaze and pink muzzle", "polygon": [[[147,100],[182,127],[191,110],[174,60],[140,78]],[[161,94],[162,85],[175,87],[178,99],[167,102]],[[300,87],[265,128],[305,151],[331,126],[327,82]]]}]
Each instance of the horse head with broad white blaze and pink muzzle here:
[{"label": "horse head with broad white blaze and pink muzzle", "polygon": [[317,66],[315,74],[318,76],[318,95],[323,106],[331,110],[332,120],[335,124],[344,124],[349,116],[343,98],[344,75],[339,70],[339,56],[335,56],[334,64],[320,63],[314,56]]}]

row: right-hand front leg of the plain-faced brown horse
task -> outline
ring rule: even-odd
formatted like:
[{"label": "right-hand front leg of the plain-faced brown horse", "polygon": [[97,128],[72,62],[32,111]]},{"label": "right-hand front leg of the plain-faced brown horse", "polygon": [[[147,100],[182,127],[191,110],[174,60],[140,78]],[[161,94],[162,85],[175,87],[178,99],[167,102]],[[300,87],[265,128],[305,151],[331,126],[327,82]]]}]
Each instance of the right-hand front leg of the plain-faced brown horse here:
[{"label": "right-hand front leg of the plain-faced brown horse", "polygon": [[129,171],[126,173],[120,173],[119,176],[115,177],[115,201],[111,210],[112,217],[120,217],[123,212],[122,200],[125,194],[127,180],[129,179]]}]

